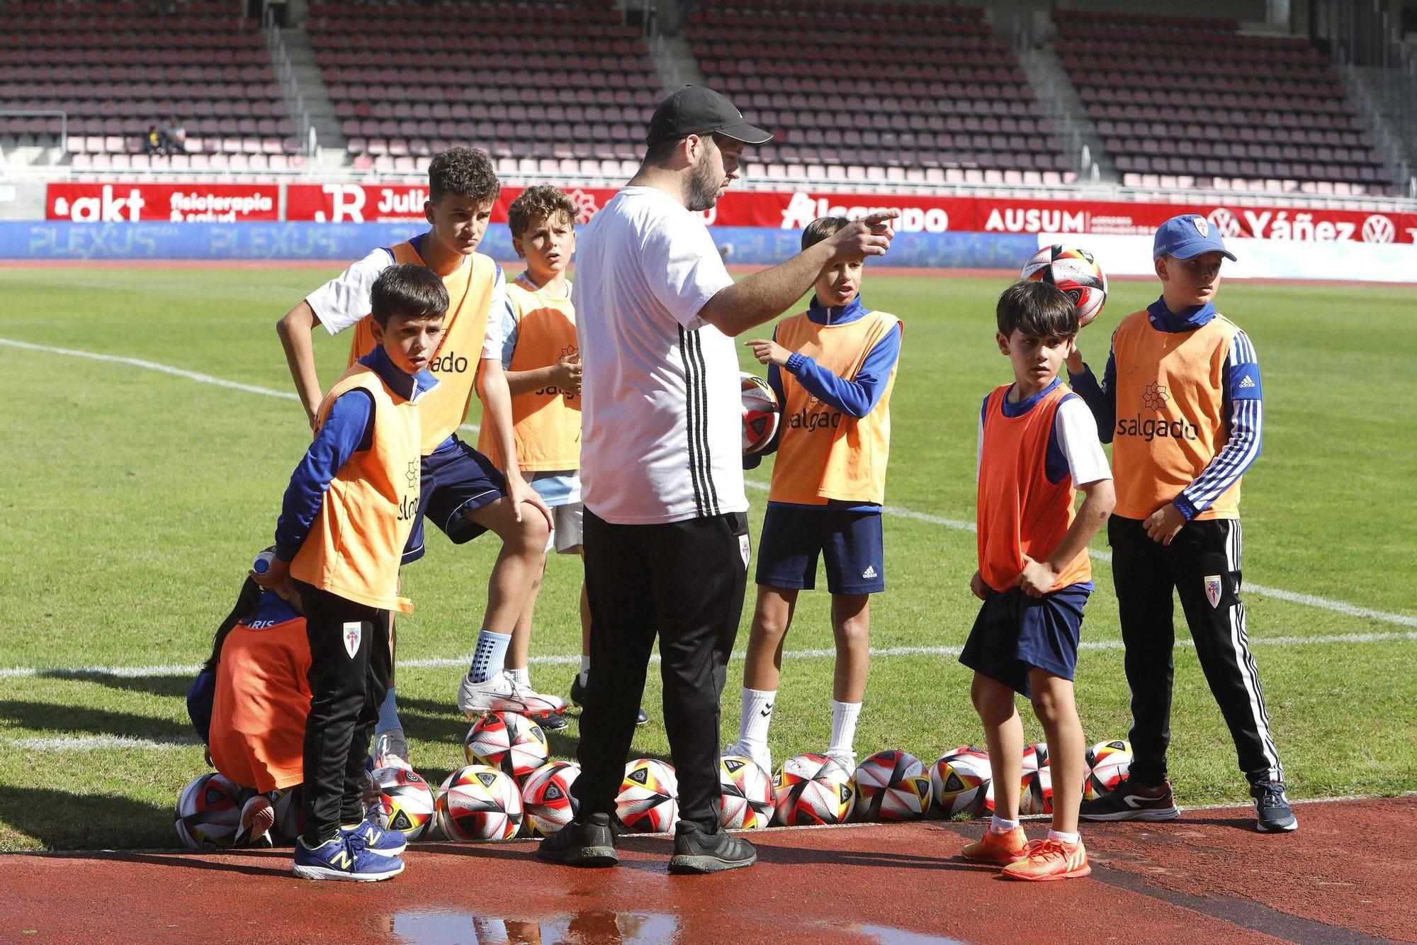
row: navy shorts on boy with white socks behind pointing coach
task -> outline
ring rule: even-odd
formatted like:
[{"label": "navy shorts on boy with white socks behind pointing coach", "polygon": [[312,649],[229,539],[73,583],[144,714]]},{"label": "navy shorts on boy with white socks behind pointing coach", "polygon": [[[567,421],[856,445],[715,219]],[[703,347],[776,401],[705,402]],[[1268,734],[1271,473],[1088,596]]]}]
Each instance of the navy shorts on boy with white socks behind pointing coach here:
[{"label": "navy shorts on boy with white socks behind pointing coach", "polygon": [[785,590],[816,587],[816,559],[826,558],[826,589],[833,595],[886,590],[886,542],[880,512],[822,505],[768,505],[758,536],[757,582]]}]

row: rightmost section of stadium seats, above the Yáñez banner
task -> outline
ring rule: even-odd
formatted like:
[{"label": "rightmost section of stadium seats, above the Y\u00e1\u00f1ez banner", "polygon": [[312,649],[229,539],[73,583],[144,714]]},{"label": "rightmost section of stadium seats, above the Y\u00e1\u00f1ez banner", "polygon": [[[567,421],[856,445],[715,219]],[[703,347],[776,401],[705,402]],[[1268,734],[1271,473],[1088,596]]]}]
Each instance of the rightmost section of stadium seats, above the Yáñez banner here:
[{"label": "rightmost section of stadium seats, above the Y\u00e1\u00f1ez banner", "polygon": [[1166,16],[1056,24],[1124,184],[1399,193],[1338,72],[1302,37]]}]

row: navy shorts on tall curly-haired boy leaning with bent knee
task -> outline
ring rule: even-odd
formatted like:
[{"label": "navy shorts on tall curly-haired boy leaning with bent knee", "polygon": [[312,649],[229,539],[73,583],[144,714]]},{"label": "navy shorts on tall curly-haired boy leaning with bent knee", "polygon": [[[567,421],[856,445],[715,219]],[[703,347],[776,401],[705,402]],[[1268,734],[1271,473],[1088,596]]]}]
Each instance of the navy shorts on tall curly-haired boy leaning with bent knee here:
[{"label": "navy shorts on tall curly-haired boy leaning with bent knee", "polygon": [[404,548],[402,563],[424,556],[424,519],[442,529],[453,545],[487,531],[466,518],[507,494],[507,480],[492,460],[458,437],[424,457],[418,516]]}]

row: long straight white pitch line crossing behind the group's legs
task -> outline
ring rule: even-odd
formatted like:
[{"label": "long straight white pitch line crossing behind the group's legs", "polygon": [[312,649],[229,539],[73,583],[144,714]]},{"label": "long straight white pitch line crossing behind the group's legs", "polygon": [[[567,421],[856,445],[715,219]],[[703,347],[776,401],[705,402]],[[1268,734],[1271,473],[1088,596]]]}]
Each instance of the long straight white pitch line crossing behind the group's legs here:
[{"label": "long straight white pitch line crossing behind the group's legs", "polygon": [[[1253,647],[1308,647],[1308,646],[1325,646],[1333,643],[1417,643],[1417,630],[1403,631],[1394,630],[1390,633],[1335,633],[1335,634],[1319,634],[1312,637],[1250,637],[1250,646]],[[1196,644],[1189,639],[1176,640],[1179,647],[1195,647]],[[1078,644],[1078,650],[1121,650],[1121,640],[1084,640]],[[922,657],[956,657],[959,656],[961,647],[871,647],[870,654],[876,658],[888,660],[893,657],[907,657],[907,656],[922,656]],[[744,658],[745,653],[743,650],[735,650],[733,653],[734,660]],[[819,648],[819,650],[788,650],[782,654],[784,660],[829,660],[836,657],[836,650]],[[438,670],[451,665],[468,665],[472,661],[472,654],[459,657],[432,657],[424,660],[400,660],[400,668],[407,670]],[[580,665],[581,656],[565,654],[565,656],[534,656],[530,660],[531,665]],[[649,657],[650,663],[659,663],[659,654],[655,653]],[[85,680],[85,678],[101,678],[101,677],[118,677],[125,680],[149,678],[156,675],[196,675],[198,664],[163,664],[163,665],[115,665],[115,667],[33,667],[33,665],[14,665],[0,668],[0,680],[18,680],[18,678],[51,678],[51,680]]]}]

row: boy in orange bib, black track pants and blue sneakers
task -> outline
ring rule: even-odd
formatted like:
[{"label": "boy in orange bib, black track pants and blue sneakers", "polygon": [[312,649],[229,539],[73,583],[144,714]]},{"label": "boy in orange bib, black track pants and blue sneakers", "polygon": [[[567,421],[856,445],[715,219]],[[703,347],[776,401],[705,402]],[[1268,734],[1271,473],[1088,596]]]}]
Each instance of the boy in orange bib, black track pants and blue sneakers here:
[{"label": "boy in orange bib, black track pants and blue sneakers", "polygon": [[305,609],[310,644],[305,833],[295,873],[310,880],[387,880],[402,871],[405,841],[364,817],[361,776],[388,688],[398,565],[418,515],[418,400],[438,383],[448,291],[429,268],[390,267],[370,291],[378,346],[320,402],[315,441],[290,475],[262,587]]}]

